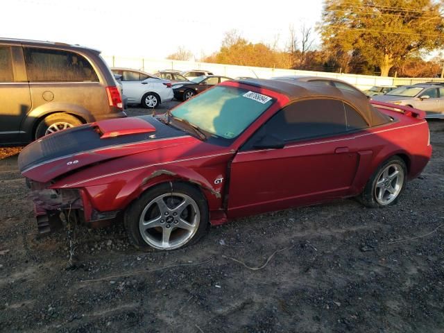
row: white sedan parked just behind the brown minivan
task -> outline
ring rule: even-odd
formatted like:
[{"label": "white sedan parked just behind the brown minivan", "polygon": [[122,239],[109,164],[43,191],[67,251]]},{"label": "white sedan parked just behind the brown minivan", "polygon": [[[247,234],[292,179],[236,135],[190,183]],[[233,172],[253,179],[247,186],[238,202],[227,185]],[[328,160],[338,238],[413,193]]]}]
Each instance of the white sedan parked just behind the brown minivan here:
[{"label": "white sedan parked just behind the brown minivan", "polygon": [[128,104],[142,104],[144,108],[152,109],[173,99],[170,80],[157,78],[137,69],[113,67],[111,70],[114,74],[121,75]]}]

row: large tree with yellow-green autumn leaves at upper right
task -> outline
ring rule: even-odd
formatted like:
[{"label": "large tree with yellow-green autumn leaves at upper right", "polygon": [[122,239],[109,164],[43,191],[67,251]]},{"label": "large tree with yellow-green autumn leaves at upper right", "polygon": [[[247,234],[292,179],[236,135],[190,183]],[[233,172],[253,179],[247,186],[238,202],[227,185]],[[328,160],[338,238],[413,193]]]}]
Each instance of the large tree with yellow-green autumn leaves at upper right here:
[{"label": "large tree with yellow-green autumn leaves at upper right", "polygon": [[359,54],[381,76],[444,45],[443,0],[325,0],[318,26],[328,50]]}]

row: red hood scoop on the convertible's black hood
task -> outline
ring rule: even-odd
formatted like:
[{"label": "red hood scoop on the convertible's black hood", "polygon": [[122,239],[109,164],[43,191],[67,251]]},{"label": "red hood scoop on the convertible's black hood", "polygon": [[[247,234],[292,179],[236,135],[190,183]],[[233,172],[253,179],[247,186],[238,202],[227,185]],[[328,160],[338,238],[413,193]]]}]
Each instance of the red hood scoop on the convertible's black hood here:
[{"label": "red hood scoop on the convertible's black hood", "polygon": [[97,121],[94,127],[100,133],[101,139],[155,132],[155,127],[151,123],[136,117]]}]

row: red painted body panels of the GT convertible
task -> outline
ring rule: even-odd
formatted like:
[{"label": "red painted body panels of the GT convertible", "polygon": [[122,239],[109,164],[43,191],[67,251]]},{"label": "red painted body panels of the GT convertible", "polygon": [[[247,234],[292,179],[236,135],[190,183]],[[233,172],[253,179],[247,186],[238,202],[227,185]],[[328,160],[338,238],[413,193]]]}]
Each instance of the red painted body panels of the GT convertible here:
[{"label": "red painted body panels of the GT convertible", "polygon": [[[79,153],[24,171],[24,176],[37,182],[55,180],[52,189],[80,189],[85,221],[92,220],[93,211],[125,210],[153,185],[184,180],[202,189],[211,223],[221,224],[241,216],[357,196],[379,164],[393,155],[406,160],[408,176],[415,178],[432,155],[422,112],[409,108],[402,109],[406,112],[402,114],[387,109],[404,107],[389,104],[375,105],[395,118],[384,126],[311,139],[281,149],[238,152],[255,130],[289,103],[289,98],[237,82],[223,85],[275,99],[271,108],[229,147],[184,135]],[[118,130],[116,123],[109,124],[111,132]],[[78,160],[76,164],[67,165],[74,159]],[[216,184],[219,178],[223,181]]]}]

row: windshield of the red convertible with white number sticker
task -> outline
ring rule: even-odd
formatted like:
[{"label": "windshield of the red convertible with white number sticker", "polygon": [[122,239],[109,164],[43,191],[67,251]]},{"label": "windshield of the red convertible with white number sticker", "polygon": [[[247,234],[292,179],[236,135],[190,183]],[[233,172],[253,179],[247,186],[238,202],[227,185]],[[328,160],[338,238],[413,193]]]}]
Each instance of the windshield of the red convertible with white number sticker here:
[{"label": "windshield of the red convertible with white number sticker", "polygon": [[271,104],[271,97],[218,86],[178,105],[171,114],[217,137],[234,139]]}]

